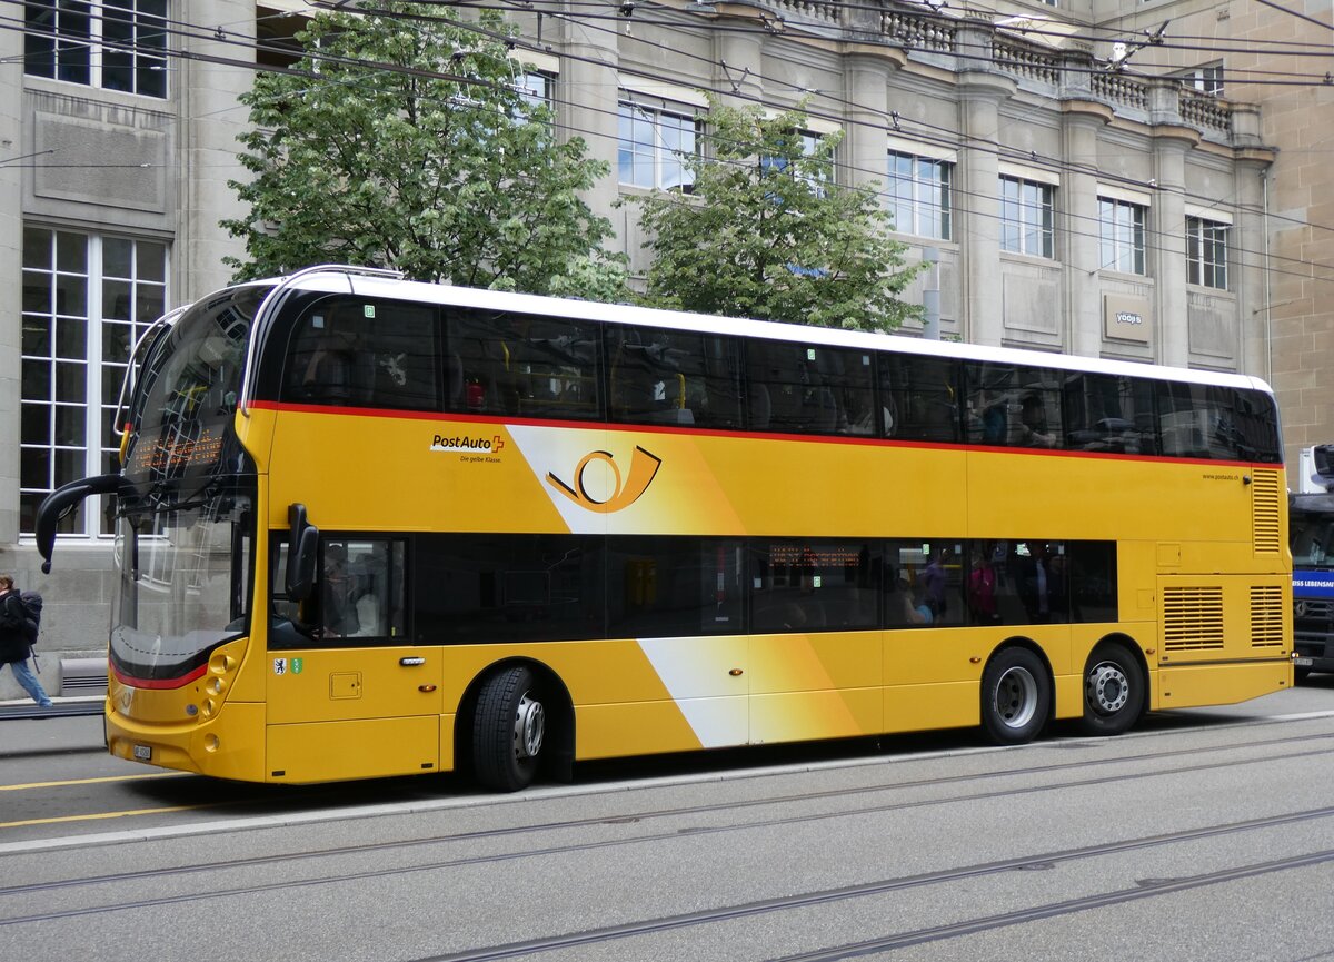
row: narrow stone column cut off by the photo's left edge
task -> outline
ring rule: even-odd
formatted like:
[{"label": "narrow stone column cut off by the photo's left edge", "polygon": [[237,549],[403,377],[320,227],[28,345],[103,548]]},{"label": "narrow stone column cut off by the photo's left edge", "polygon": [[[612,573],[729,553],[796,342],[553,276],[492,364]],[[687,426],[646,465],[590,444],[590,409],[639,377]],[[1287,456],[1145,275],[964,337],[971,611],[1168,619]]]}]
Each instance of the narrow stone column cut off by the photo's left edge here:
[{"label": "narrow stone column cut off by the photo's left edge", "polygon": [[[23,31],[0,31],[0,160],[32,148],[21,136]],[[23,338],[23,161],[0,164],[0,546],[19,540],[19,350]],[[8,674],[8,672],[7,672]]]}]

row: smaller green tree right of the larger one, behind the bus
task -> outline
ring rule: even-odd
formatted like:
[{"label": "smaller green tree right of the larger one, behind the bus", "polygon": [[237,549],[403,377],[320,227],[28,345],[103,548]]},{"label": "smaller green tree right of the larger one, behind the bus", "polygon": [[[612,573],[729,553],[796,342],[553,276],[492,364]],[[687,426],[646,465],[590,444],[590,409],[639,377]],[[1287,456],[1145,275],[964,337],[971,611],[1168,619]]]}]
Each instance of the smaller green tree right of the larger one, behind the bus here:
[{"label": "smaller green tree right of the larger one, behind the bus", "polygon": [[[923,266],[887,236],[875,185],[834,184],[836,135],[811,149],[803,108],[768,117],[711,99],[690,195],[654,191],[644,300],[703,314],[888,331],[920,307],[898,295]],[[711,149],[710,149],[711,148]]]}]

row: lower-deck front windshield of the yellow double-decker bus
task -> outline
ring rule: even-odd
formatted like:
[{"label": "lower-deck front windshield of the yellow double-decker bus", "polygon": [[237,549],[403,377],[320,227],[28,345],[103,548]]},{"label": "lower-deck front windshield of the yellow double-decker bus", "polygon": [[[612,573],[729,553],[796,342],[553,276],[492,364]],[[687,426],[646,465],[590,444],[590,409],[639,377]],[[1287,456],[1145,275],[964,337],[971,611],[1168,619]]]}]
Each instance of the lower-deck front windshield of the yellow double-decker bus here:
[{"label": "lower-deck front windshield of the yellow double-decker bus", "polygon": [[255,543],[252,494],[228,490],[157,510],[125,510],[111,660],[133,679],[183,679],[247,630]]}]

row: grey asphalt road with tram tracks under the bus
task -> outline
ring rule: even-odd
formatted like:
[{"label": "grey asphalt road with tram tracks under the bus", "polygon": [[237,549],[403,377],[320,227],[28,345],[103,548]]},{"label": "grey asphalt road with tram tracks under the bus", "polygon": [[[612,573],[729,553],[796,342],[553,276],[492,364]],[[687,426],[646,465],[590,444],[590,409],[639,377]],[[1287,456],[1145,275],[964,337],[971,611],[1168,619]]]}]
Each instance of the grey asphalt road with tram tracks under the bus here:
[{"label": "grey asphalt road with tram tracks under the bus", "polygon": [[271,789],[0,722],[0,959],[1334,958],[1334,676],[971,733]]}]

